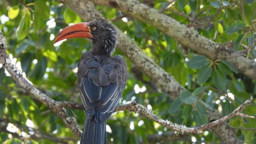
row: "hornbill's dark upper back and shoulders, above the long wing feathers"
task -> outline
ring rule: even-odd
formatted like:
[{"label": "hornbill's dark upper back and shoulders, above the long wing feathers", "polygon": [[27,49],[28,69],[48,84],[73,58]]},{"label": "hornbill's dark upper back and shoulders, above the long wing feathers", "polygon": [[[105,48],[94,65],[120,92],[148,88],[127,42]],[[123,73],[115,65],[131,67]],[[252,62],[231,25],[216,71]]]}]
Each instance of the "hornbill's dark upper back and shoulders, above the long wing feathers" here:
[{"label": "hornbill's dark upper back and shoulders, above the long wing feathers", "polygon": [[89,76],[97,86],[107,86],[118,80],[124,80],[127,75],[125,59],[120,56],[83,54],[78,65],[78,77]]}]

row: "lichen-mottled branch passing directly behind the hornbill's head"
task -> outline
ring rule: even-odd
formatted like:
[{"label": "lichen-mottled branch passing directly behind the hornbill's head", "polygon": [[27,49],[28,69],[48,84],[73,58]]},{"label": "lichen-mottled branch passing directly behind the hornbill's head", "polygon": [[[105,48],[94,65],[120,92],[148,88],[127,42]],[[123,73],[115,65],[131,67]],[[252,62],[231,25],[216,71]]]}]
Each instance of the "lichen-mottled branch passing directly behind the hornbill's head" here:
[{"label": "lichen-mottled branch passing directly behind the hornbill's head", "polygon": [[[57,0],[63,4],[68,5],[80,17],[86,21],[104,20],[104,16],[99,13],[91,1],[82,0]],[[79,3],[79,7],[78,4]],[[108,21],[111,23],[111,21]],[[118,28],[117,28],[118,29]],[[127,56],[137,68],[141,69],[144,74],[150,77],[162,91],[168,93],[172,98],[176,98],[181,94],[185,88],[180,85],[173,76],[166,73],[154,61],[144,53],[139,46],[130,38],[127,37],[120,29],[118,29],[118,49]]]}]

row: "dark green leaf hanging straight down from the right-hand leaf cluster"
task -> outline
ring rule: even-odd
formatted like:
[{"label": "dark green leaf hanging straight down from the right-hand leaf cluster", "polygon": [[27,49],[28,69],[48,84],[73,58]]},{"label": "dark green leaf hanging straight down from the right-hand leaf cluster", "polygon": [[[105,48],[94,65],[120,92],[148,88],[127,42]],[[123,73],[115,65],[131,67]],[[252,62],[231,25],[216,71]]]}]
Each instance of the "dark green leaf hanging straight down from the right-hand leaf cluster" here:
[{"label": "dark green leaf hanging straight down from the right-hand leaf cluster", "polygon": [[226,77],[220,73],[219,70],[213,71],[212,80],[214,86],[216,86],[220,91],[224,91],[226,86]]}]

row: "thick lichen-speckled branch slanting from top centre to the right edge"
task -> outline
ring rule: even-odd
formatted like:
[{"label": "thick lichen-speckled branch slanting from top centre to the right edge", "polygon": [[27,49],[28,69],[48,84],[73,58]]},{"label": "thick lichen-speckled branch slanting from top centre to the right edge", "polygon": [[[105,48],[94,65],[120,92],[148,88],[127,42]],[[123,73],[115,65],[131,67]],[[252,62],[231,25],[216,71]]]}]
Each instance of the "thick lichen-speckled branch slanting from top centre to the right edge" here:
[{"label": "thick lichen-speckled branch slanting from top centre to the right edge", "polygon": [[212,60],[225,59],[235,65],[241,73],[256,80],[256,62],[253,59],[246,58],[240,52],[232,51],[232,47],[225,47],[225,45],[217,44],[203,37],[193,27],[182,25],[171,17],[159,13],[158,10],[149,8],[146,4],[139,3],[137,0],[94,0],[94,2],[99,5],[113,7],[138,20],[147,22],[149,25],[178,39],[181,44]]}]

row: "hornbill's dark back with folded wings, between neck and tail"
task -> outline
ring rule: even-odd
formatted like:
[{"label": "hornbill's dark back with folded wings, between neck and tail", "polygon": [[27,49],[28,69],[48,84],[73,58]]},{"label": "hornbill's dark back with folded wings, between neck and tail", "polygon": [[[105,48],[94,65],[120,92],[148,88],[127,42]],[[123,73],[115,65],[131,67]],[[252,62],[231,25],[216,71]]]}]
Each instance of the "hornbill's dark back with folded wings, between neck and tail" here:
[{"label": "hornbill's dark back with folded wings, between neck and tail", "polygon": [[111,114],[121,98],[126,77],[122,56],[84,53],[78,64],[78,85],[85,109]]}]

